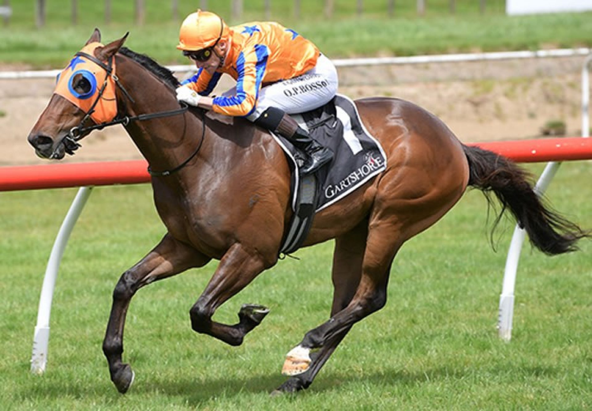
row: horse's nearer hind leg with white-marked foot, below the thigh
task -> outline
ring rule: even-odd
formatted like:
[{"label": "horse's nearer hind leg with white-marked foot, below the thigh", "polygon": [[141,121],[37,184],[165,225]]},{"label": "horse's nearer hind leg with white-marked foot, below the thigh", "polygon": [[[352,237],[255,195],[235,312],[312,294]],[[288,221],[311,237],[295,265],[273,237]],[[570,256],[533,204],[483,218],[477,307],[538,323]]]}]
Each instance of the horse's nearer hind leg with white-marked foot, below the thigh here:
[{"label": "horse's nearer hind leg with white-marked foot, below the thigh", "polygon": [[373,227],[362,263],[362,276],[355,295],[347,307],[334,314],[326,323],[306,333],[302,342],[288,352],[282,372],[299,375],[313,364],[314,349],[332,346],[337,339],[357,321],[384,307],[387,301],[387,284],[390,267],[400,248],[398,231],[387,224]]}]

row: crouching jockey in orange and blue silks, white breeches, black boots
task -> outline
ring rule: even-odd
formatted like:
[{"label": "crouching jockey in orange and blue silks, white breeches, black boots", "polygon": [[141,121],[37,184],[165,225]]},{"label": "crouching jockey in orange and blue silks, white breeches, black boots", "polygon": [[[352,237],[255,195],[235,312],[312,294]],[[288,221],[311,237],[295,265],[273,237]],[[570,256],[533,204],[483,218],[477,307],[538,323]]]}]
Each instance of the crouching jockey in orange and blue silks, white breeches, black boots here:
[{"label": "crouching jockey in orange and blue silks, white breeches, black boots", "polygon": [[[177,100],[279,133],[304,152],[301,174],[332,160],[333,152],[288,116],[321,107],[337,93],[335,66],[313,43],[278,23],[229,27],[218,15],[198,10],[183,21],[177,48],[199,69],[177,88]],[[236,87],[207,97],[223,73]]]}]

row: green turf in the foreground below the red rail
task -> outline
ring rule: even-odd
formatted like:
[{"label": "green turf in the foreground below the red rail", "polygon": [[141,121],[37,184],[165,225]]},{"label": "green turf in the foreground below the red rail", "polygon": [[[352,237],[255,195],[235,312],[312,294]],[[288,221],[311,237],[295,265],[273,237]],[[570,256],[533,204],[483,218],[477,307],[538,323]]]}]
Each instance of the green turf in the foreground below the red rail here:
[{"label": "green turf in the foreground below the red rail", "polygon": [[[592,227],[588,162],[564,164],[554,206]],[[530,167],[536,173],[541,165]],[[327,319],[332,243],[298,251],[218,310],[244,302],[271,313],[231,348],[195,334],[188,310],[215,265],[142,289],[128,314],[126,396],[112,386],[101,342],[111,292],[164,229],[149,186],[94,190],[63,257],[47,372],[28,360],[44,267],[75,190],[1,193],[0,398],[7,410],[583,410],[592,406],[592,244],[545,257],[523,250],[513,339],[496,333],[511,224],[488,243],[487,206],[471,191],[409,241],[392,269],[387,306],[357,324],[309,390],[271,398],[285,353]],[[491,219],[491,218],[490,218]]]}]

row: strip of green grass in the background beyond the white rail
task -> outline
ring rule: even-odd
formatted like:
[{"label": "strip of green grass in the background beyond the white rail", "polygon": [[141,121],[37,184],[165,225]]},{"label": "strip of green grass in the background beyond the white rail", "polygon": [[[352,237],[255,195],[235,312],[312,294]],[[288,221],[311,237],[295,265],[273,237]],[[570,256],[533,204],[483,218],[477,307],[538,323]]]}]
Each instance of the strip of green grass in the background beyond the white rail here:
[{"label": "strip of green grass in the background beyond the white rail", "polygon": [[[30,3],[15,3],[10,25],[0,27],[0,62],[61,67],[96,26],[103,31],[105,42],[130,31],[127,45],[132,49],[163,64],[186,63],[175,49],[179,22],[170,18],[168,2],[163,8],[162,2],[147,1],[142,27],[134,26],[133,2],[112,3],[110,24],[104,23],[104,2],[98,1],[81,7],[79,23],[72,26],[69,2],[48,2],[47,27],[41,30],[34,27]],[[194,1],[179,3],[181,16],[196,7]],[[313,40],[332,58],[592,46],[592,13],[508,17],[503,1],[488,1],[487,12],[480,14],[478,2],[467,0],[457,1],[457,12],[452,15],[448,1],[439,0],[428,2],[423,18],[415,14],[415,2],[397,2],[399,11],[395,18],[388,18],[386,2],[374,0],[364,2],[366,12],[357,18],[356,2],[336,3],[336,17],[330,21],[324,19],[323,4],[316,0],[302,2],[303,18],[299,20],[292,16],[292,2],[272,2],[276,10],[272,18]],[[211,4],[213,11],[229,17],[230,2]],[[263,1],[245,6],[242,21],[264,19]]]}]

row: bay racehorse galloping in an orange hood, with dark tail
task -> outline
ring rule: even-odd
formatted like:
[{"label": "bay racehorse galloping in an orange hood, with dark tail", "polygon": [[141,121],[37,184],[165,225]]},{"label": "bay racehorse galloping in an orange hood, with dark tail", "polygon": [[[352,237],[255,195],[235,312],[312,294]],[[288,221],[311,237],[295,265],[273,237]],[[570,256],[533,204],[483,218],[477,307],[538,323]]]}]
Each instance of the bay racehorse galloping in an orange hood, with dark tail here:
[{"label": "bay racehorse galloping in an orange hood, with dark tail", "polygon": [[[269,133],[245,119],[221,122],[200,109],[179,109],[178,80],[149,57],[122,47],[126,37],[103,46],[95,29],[86,52],[76,54],[62,77],[85,64],[100,93],[91,90],[88,73],[62,79],[81,100],[65,98],[59,83],[28,136],[37,155],[60,159],[73,154],[92,129],[121,123],[152,170],[154,201],[167,232],[121,275],[102,344],[111,380],[121,393],[134,378],[122,359],[133,295],[152,282],[220,260],[189,311],[191,327],[240,345],[268,309],[243,305],[233,325],[212,317],[275,265],[292,214],[288,163]],[[89,93],[96,98],[88,98]],[[86,109],[84,99],[90,101]],[[112,116],[101,119],[98,114],[109,111],[108,104],[115,104]],[[587,236],[539,200],[522,168],[463,145],[426,110],[395,98],[364,98],[355,104],[366,129],[384,148],[387,168],[314,218],[303,246],[335,239],[330,318],[288,352],[283,372],[289,378],[276,393],[307,388],[353,324],[384,307],[397,251],[442,218],[468,186],[495,193],[543,253],[575,250],[577,240]]]}]

